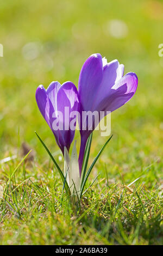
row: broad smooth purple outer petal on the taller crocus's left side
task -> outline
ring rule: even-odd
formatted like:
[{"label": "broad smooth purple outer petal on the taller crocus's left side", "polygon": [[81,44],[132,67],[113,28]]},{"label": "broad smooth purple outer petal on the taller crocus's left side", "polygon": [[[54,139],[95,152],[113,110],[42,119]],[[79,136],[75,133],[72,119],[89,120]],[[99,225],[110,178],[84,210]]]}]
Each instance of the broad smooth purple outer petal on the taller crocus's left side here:
[{"label": "broad smooth purple outer petal on the taller crocus's left side", "polygon": [[103,77],[103,61],[101,54],[91,55],[84,63],[79,75],[80,108],[91,110],[97,96],[97,89]]}]

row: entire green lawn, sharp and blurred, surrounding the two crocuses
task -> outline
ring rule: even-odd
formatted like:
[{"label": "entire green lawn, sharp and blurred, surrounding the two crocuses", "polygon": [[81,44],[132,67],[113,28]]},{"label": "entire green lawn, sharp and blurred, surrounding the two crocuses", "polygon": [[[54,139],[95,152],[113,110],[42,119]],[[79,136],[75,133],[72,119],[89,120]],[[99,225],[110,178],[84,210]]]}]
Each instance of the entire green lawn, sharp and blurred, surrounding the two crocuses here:
[{"label": "entire green lawn, sharp and blurred, surrounding the two crocuses", "polygon": [[[158,0],[1,3],[0,159],[14,157],[0,162],[0,245],[162,245],[162,14]],[[124,38],[109,33],[114,19],[126,23]],[[53,80],[77,86],[80,68],[95,52],[136,72],[139,85],[112,113],[114,136],[74,209],[35,136],[36,130],[63,168],[35,90]],[[79,149],[78,132],[76,139]],[[89,167],[106,140],[94,132]]]}]

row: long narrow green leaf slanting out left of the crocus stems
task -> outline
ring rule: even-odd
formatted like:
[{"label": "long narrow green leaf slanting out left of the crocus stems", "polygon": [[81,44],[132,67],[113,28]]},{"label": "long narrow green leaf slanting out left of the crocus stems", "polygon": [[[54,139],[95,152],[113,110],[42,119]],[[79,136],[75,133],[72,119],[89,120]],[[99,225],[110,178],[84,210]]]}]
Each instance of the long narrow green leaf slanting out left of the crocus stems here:
[{"label": "long narrow green leaf slanting out left of the crocus stems", "polygon": [[35,132],[35,133],[36,133],[37,138],[39,138],[39,141],[41,142],[41,144],[43,145],[43,147],[46,149],[48,155],[51,157],[53,163],[55,164],[55,167],[58,169],[58,172],[59,172],[59,174],[60,174],[60,177],[61,177],[61,180],[62,180],[63,184],[64,184],[64,182],[65,182],[65,190],[66,190],[66,193],[67,193],[68,196],[70,196],[70,194],[71,194],[71,193],[70,193],[70,188],[68,187],[68,184],[67,184],[67,181],[65,180],[64,174],[62,173],[60,167],[58,166],[58,164],[57,164],[57,162],[55,161],[54,157],[52,156],[51,152],[50,152],[50,151],[48,150],[48,148],[46,147],[45,143],[42,141],[42,139],[41,139],[40,136],[37,134],[37,132]]}]

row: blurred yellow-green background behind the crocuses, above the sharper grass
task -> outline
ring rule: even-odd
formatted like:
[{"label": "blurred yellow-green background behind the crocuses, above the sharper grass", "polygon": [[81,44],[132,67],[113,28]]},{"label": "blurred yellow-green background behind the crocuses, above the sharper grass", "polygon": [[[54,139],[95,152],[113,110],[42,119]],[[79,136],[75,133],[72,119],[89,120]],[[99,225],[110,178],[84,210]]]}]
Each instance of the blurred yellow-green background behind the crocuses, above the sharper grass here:
[{"label": "blurred yellow-green background behind the crocuses, above the sharper grass", "polygon": [[[111,115],[114,138],[103,159],[107,163],[111,157],[122,167],[134,161],[140,167],[161,157],[162,1],[1,0],[0,6],[1,159],[15,154],[23,141],[46,159],[35,130],[52,151],[58,150],[37,108],[35,90],[52,81],[78,86],[84,61],[97,52],[108,62],[118,59],[125,73],[133,71],[139,78],[133,99]],[[96,132],[92,155],[104,141]]]}]

